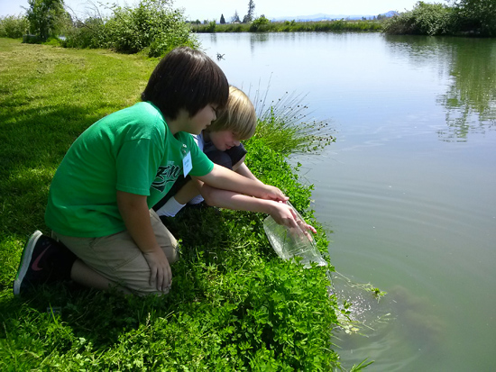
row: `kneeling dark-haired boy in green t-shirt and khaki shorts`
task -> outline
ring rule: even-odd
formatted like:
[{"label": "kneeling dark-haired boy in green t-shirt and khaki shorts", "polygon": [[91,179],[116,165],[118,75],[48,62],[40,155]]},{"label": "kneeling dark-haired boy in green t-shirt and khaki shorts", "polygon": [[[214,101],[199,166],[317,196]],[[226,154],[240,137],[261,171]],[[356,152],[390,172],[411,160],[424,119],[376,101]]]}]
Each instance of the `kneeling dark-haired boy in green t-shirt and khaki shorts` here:
[{"label": "kneeling dark-haired boy in green t-shirt and khaki shorts", "polygon": [[14,294],[69,277],[100,289],[167,293],[177,241],[152,206],[179,174],[271,200],[278,221],[296,226],[290,208],[278,203],[288,200],[280,189],[214,165],[188,134],[215,120],[227,96],[224,73],[204,53],[183,47],[161,59],[142,102],[107,115],[70,147],[53,177],[45,213],[55,240],[40,231],[32,235]]}]

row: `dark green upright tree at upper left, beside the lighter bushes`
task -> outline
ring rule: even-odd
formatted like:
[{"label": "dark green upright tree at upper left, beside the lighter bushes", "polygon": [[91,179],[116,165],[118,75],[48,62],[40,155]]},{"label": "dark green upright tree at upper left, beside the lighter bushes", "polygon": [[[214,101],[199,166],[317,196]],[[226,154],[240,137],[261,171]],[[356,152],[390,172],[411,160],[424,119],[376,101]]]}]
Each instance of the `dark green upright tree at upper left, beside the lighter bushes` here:
[{"label": "dark green upright tree at upper left, beside the lighter bushes", "polygon": [[30,32],[41,41],[50,36],[58,36],[63,20],[67,18],[63,0],[28,0],[26,17],[30,23]]}]

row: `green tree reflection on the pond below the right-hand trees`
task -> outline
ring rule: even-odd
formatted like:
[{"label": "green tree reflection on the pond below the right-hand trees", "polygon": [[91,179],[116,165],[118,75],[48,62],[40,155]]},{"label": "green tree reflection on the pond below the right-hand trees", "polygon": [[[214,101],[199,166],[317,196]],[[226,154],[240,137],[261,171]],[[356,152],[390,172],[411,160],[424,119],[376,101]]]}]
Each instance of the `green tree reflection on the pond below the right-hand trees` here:
[{"label": "green tree reflection on the pond below the right-hand trees", "polygon": [[441,141],[467,141],[470,133],[496,127],[496,42],[490,39],[385,36],[391,55],[407,56],[412,66],[435,64],[449,77],[436,103],[445,107]]}]

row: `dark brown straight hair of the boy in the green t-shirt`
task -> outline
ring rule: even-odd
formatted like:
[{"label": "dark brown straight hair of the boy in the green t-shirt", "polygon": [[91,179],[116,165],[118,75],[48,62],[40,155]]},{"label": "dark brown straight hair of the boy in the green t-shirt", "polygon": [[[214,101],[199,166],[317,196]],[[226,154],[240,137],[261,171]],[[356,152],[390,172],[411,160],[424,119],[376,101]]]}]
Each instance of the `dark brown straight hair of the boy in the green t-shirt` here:
[{"label": "dark brown straight hair of the boy in the green t-shirt", "polygon": [[142,101],[155,104],[164,116],[177,118],[185,109],[194,116],[207,104],[222,109],[229,95],[222,69],[199,50],[180,47],[171,50],[153,70]]}]

